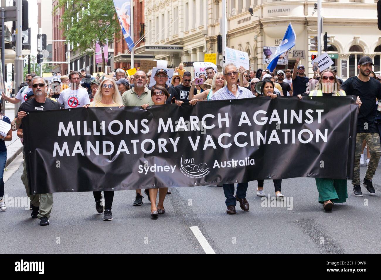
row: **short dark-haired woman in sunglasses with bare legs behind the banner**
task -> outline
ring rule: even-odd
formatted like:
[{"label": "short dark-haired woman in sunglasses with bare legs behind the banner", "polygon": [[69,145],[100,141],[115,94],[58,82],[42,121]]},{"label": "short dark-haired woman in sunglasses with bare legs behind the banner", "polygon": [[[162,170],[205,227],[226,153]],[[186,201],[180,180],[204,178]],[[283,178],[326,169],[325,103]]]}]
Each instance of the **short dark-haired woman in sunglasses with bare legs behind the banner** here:
[{"label": "short dark-haired woman in sunglasses with bare legs behind the banner", "polygon": [[[151,98],[152,102],[154,102],[154,105],[164,105],[167,98],[169,98],[168,91],[163,86],[154,85],[152,86],[151,90]],[[198,100],[191,100],[189,101],[189,104],[195,105]],[[176,100],[175,101],[178,106],[181,106],[183,101]],[[143,104],[141,107],[146,110],[149,104]],[[165,107],[163,107],[165,110]],[[165,195],[168,192],[168,188],[155,188],[155,189],[144,189],[144,192],[146,193],[148,200],[151,202],[151,216],[154,218],[157,218],[159,214],[164,214],[164,199]],[[157,198],[157,192],[159,192],[159,202],[156,206],[156,198]]]}]

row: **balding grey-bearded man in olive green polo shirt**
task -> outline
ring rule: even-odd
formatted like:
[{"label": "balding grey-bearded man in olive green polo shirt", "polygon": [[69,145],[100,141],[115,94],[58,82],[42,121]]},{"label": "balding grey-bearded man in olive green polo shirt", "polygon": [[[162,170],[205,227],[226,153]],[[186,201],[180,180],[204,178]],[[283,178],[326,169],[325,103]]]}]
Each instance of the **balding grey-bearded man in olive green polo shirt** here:
[{"label": "balding grey-bearded man in olive green polo shirt", "polygon": [[[151,98],[151,91],[146,88],[147,75],[144,71],[138,71],[134,75],[135,86],[131,90],[125,91],[122,95],[124,106],[142,106],[143,104],[154,105]],[[134,206],[140,206],[143,203],[141,190],[136,190]]]}]

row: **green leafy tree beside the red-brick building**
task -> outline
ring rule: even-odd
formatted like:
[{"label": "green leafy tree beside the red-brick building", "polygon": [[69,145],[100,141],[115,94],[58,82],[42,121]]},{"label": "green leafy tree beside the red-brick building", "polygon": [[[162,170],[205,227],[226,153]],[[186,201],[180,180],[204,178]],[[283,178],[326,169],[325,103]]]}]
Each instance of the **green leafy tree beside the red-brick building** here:
[{"label": "green leafy tree beside the red-brick building", "polygon": [[[69,8],[67,8],[69,2]],[[112,0],[59,0],[53,13],[64,8],[59,26],[64,30],[66,41],[73,44],[73,50],[81,54],[93,51],[98,42],[102,49],[102,66],[105,69],[103,44],[119,36],[120,25],[115,19],[115,7]]]}]

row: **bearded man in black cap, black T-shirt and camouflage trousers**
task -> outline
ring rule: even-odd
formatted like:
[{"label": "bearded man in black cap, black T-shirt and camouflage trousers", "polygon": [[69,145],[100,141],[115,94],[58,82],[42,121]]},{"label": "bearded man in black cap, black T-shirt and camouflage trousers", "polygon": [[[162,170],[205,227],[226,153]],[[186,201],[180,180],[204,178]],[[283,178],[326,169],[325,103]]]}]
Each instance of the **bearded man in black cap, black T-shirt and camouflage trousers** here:
[{"label": "bearded man in black cap, black T-shirt and camouflage trousers", "polygon": [[359,65],[357,65],[359,75],[348,78],[343,85],[341,85],[341,89],[344,90],[347,95],[359,96],[362,102],[357,117],[356,151],[352,180],[353,195],[357,197],[362,197],[360,187],[360,156],[364,139],[370,150],[370,161],[365,178],[363,179],[363,185],[367,188],[368,194],[370,195],[376,193],[372,184],[372,178],[376,173],[381,156],[380,137],[375,123],[377,115],[375,101],[376,98],[381,99],[381,83],[369,77],[372,66],[374,66],[372,59],[369,56],[363,56],[359,60]]}]

